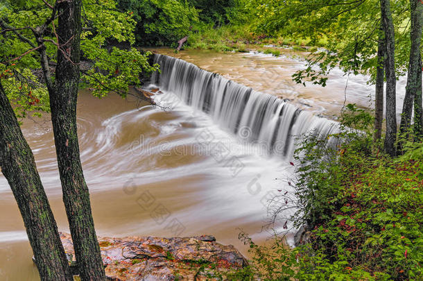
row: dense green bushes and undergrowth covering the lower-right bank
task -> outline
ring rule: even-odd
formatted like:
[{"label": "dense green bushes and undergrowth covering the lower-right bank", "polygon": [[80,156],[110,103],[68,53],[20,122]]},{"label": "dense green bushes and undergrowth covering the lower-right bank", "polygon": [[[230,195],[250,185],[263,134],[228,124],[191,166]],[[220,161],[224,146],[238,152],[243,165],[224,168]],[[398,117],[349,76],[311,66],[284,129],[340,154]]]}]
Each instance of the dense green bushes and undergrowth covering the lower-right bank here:
[{"label": "dense green bushes and undergrowth covering the lower-right bank", "polygon": [[291,220],[308,226],[307,243],[258,246],[241,234],[253,258],[230,280],[422,280],[423,144],[392,159],[372,142],[370,114],[347,105],[341,122],[295,153]]}]

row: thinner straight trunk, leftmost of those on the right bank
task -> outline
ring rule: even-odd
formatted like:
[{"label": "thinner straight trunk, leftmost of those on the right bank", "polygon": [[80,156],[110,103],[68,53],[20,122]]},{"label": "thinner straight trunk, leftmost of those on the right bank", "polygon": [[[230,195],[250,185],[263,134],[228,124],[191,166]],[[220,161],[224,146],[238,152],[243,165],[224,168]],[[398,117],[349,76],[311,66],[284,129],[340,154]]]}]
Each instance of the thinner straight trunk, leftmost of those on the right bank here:
[{"label": "thinner straight trunk, leftmost of those on the right bank", "polygon": [[379,28],[379,40],[377,43],[377,72],[376,72],[376,90],[374,97],[374,142],[381,138],[383,122],[383,75],[385,74],[385,37],[382,26]]}]

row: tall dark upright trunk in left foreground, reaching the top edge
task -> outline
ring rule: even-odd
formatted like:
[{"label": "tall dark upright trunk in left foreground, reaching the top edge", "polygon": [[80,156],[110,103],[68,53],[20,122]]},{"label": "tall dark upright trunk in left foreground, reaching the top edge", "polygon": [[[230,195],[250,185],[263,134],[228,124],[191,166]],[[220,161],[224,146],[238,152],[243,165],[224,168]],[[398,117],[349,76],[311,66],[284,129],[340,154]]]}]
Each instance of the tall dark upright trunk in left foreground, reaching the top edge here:
[{"label": "tall dark upright trunk in left foreground, reaching the top edge", "polygon": [[81,5],[81,0],[62,1],[58,5],[60,49],[55,84],[49,96],[64,207],[74,241],[80,278],[86,281],[105,280],[105,271],[94,230],[89,191],[80,162],[76,130]]}]

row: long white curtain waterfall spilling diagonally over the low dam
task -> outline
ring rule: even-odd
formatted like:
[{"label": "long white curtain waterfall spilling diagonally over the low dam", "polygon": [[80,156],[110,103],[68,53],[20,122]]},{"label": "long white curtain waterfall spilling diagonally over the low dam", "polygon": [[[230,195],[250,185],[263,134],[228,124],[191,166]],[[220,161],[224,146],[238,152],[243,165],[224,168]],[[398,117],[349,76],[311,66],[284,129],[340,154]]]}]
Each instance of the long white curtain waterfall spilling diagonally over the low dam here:
[{"label": "long white curtain waterfall spilling diagonally over the low dam", "polygon": [[290,157],[295,139],[306,133],[327,137],[338,129],[336,122],[316,117],[271,94],[256,92],[192,63],[155,54],[161,73],[151,83],[173,92],[193,108],[209,114],[221,128],[252,143],[266,144],[277,156]]}]

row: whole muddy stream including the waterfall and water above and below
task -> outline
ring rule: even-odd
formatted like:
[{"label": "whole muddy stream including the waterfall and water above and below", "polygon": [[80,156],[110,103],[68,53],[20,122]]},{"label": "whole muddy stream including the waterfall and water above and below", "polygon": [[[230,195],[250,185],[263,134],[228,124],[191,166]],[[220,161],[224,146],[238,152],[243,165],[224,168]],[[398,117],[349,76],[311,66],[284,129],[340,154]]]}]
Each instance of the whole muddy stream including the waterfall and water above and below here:
[{"label": "whole muddy stream including the waterfall and water above and below", "polygon": [[[81,91],[78,136],[97,234],[210,234],[243,253],[241,230],[256,241],[268,238],[271,230],[262,227],[269,200],[292,192],[287,180],[295,136],[336,130],[330,120],[335,118],[322,117],[339,112],[344,101],[346,77],[340,71],[331,74],[326,89],[293,84],[291,74],[304,62],[292,55],[302,54],[178,54],[207,71],[155,55],[162,74],[153,75],[148,87],[159,88],[155,101],[162,108],[130,96],[96,99]],[[350,76],[347,90],[347,100],[363,108],[370,106],[372,93],[365,80]],[[51,122],[24,120],[22,130],[58,227],[69,231]],[[17,204],[1,174],[0,194],[0,280],[39,280]],[[283,223],[273,227],[283,230]]]}]

